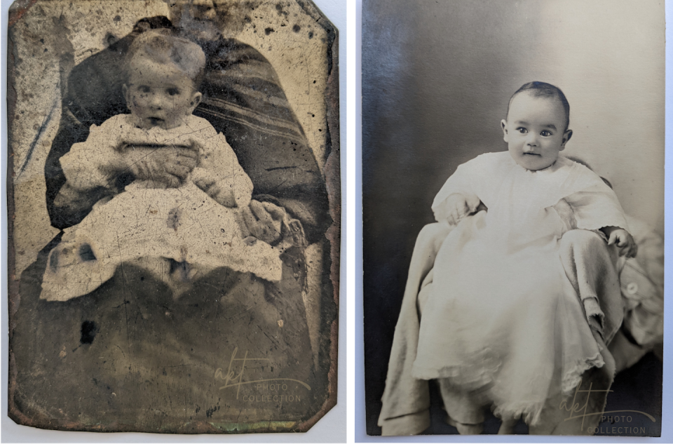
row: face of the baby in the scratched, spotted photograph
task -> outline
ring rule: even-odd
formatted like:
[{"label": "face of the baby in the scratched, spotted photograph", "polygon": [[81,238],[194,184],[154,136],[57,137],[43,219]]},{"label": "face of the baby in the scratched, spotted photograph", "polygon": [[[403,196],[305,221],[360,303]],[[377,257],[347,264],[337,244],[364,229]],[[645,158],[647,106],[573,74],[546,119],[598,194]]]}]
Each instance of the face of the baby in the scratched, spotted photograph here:
[{"label": "face of the baby in the scratched, spotted photograph", "polygon": [[170,65],[135,58],[129,69],[124,96],[140,128],[158,126],[168,130],[180,126],[200,101],[201,94],[194,90],[193,81]]}]

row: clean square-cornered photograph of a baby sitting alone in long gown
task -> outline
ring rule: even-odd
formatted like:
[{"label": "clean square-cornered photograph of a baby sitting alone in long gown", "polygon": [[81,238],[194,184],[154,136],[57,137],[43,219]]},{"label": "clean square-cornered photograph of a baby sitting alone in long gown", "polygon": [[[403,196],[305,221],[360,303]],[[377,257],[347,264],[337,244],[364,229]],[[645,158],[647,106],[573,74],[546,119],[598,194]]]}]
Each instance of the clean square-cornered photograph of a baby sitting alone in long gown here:
[{"label": "clean square-cornered photograph of a baby sitting alone in long gown", "polygon": [[660,436],[658,1],[362,2],[367,434]]}]

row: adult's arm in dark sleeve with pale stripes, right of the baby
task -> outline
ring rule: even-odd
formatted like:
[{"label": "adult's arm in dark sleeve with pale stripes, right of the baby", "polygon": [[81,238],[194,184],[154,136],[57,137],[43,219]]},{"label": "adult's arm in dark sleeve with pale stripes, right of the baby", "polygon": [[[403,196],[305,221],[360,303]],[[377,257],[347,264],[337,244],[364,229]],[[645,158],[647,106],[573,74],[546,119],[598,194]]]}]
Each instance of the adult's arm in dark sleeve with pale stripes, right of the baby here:
[{"label": "adult's arm in dark sleeve with pale stripes, right of the baby", "polygon": [[252,199],[285,208],[317,241],[332,222],[325,182],[275,70],[245,43],[198,43],[208,67],[194,114],[224,133],[254,184]]}]

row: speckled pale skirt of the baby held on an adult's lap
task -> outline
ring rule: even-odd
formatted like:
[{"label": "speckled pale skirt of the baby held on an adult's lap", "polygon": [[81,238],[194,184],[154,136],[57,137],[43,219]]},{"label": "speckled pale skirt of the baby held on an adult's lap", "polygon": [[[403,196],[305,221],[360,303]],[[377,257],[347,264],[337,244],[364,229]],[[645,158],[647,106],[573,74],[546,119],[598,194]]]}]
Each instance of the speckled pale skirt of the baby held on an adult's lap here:
[{"label": "speckled pale skirt of the baby held on an adult's lap", "polygon": [[41,299],[86,295],[122,264],[145,269],[173,292],[220,267],[279,281],[281,251],[244,239],[241,223],[238,208],[219,205],[192,182],[169,189],[134,182],[64,230],[50,252]]}]

